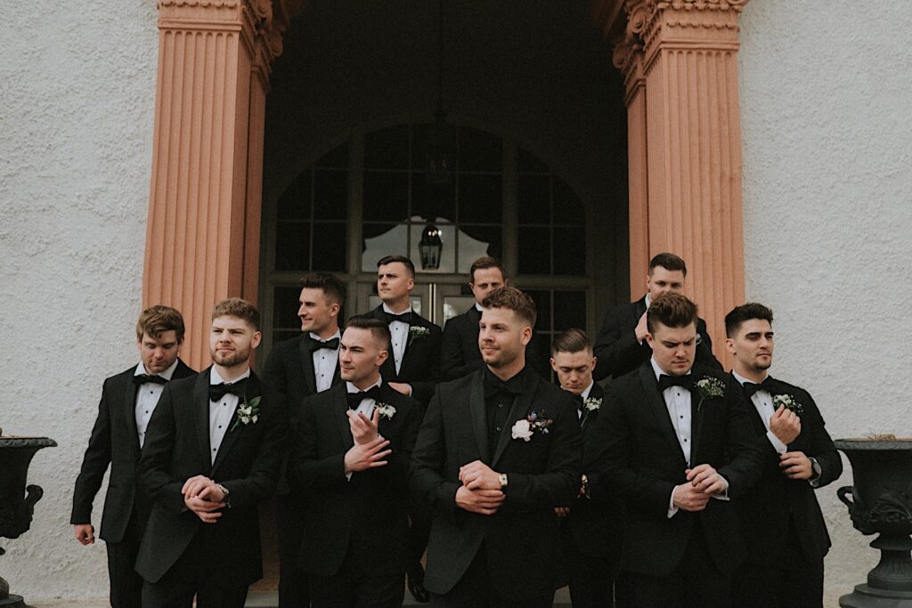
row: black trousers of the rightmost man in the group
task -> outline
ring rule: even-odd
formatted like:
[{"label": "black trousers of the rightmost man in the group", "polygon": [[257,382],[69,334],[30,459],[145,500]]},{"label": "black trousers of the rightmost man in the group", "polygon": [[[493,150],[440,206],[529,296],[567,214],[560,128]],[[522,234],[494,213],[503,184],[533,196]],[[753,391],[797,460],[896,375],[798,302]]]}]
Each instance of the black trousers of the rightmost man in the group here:
[{"label": "black trousers of the rightmost man in the group", "polygon": [[808,560],[794,520],[778,555],[751,555],[735,574],[732,604],[745,608],[820,608],[824,605],[824,560]]}]

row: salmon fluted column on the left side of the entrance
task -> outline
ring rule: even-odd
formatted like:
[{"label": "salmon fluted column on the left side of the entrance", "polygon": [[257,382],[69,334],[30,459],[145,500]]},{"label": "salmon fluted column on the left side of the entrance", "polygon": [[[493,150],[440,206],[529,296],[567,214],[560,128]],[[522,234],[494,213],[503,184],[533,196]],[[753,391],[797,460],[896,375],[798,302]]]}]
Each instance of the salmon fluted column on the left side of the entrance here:
[{"label": "salmon fluted column on the left side of the entrance", "polygon": [[209,363],[213,304],[256,299],[265,95],[284,29],[272,4],[159,2],[142,300],[181,310],[182,356],[197,368]]}]

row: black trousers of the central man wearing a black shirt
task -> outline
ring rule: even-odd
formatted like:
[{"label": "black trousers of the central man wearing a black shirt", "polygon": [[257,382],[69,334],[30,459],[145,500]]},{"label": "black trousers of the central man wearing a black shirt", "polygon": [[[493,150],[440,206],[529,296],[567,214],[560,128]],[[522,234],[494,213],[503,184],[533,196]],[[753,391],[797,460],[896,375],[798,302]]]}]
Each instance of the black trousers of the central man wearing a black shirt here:
[{"label": "black trousers of the central man wearing a black shirt", "polygon": [[430,605],[435,608],[550,608],[554,603],[554,591],[522,599],[508,597],[497,585],[497,573],[493,573],[493,579],[491,574],[482,542],[462,578],[449,593],[431,593]]}]

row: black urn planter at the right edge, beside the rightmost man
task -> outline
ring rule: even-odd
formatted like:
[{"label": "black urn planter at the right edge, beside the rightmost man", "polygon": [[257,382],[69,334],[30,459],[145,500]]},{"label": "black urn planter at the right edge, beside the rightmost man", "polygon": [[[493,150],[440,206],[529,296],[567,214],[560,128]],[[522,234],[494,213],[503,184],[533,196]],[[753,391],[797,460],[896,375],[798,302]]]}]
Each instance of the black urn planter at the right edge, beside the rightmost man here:
[{"label": "black urn planter at the right edge, beside the rightmost man", "polygon": [[852,463],[852,486],[836,490],[855,529],[877,534],[880,563],[867,583],[839,598],[843,608],[912,608],[912,439],[877,436],[839,439]]}]

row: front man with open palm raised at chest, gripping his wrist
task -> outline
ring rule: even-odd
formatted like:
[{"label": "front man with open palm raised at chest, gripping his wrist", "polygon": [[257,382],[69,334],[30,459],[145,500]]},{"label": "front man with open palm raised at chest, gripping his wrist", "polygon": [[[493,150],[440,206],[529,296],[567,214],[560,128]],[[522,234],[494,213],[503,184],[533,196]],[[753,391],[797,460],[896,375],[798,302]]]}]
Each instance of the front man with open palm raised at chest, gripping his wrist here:
[{"label": "front man with open palm raised at chest, gripping his wrist", "polygon": [[314,608],[402,605],[421,405],[383,382],[388,345],[386,323],[348,321],[339,354],[345,384],[307,397],[295,428],[289,475],[310,497],[298,515]]}]

